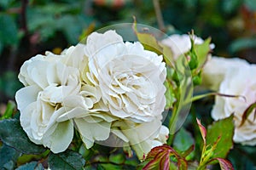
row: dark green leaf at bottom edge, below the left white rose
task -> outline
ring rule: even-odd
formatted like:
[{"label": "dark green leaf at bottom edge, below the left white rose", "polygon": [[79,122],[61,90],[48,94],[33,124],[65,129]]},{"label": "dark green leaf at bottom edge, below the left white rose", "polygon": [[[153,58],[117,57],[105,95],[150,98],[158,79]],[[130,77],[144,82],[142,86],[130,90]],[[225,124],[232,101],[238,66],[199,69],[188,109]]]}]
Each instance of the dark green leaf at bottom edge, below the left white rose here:
[{"label": "dark green leaf at bottom edge, below the left white rose", "polygon": [[66,150],[65,152],[59,154],[49,154],[48,158],[50,169],[83,169],[85,160],[83,156],[73,150]]}]

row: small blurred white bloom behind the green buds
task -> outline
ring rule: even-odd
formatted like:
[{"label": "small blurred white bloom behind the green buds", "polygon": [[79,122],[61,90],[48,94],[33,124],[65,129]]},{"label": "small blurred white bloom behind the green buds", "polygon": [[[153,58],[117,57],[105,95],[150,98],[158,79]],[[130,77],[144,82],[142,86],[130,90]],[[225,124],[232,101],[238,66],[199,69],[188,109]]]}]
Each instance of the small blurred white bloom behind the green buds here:
[{"label": "small blurred white bloom behind the green buds", "polygon": [[[195,41],[195,44],[201,44],[204,42],[204,40],[201,39],[201,37],[196,37],[196,36],[194,41]],[[188,34],[183,34],[183,35],[173,34],[172,36],[167,37],[161,42],[172,49],[173,59],[177,59],[181,54],[185,54],[189,52],[191,48],[190,37]],[[213,49],[214,44],[210,44],[210,48]]]}]

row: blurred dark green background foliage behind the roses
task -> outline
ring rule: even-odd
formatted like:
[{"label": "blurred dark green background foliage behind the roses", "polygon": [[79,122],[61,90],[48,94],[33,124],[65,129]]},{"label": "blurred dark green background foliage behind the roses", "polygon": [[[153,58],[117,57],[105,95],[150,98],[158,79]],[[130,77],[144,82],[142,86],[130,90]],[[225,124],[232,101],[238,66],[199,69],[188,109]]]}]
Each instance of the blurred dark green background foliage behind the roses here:
[{"label": "blurred dark green background foliage behind the roses", "polygon": [[[168,35],[193,29],[199,37],[212,37],[213,55],[256,63],[255,0],[0,0],[0,113],[22,87],[17,75],[26,59],[46,50],[59,54],[103,26],[133,22],[132,16]],[[183,127],[195,127],[195,117],[210,124],[212,102],[195,103]],[[228,159],[236,169],[253,169],[255,154],[255,147],[236,144]]]}]

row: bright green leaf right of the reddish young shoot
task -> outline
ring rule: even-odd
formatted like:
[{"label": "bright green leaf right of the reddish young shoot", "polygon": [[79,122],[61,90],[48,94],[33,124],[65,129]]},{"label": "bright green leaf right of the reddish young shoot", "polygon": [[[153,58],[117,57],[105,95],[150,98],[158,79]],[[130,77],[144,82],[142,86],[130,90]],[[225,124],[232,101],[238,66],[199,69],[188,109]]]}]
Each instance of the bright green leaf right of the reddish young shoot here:
[{"label": "bright green leaf right of the reddish young shoot", "polygon": [[218,144],[213,150],[212,158],[225,158],[233,147],[234,123],[233,116],[213,122],[207,127],[207,144]]}]

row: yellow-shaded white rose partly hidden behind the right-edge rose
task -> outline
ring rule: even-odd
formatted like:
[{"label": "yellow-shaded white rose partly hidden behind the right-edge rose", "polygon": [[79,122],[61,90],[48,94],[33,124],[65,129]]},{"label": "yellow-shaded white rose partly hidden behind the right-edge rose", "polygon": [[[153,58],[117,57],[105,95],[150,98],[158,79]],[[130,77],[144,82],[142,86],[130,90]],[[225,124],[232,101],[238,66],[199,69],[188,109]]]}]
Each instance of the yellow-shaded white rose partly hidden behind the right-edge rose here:
[{"label": "yellow-shaded white rose partly hidden behind the right-edge rose", "polygon": [[223,57],[212,57],[202,70],[202,85],[217,91],[220,82],[224,80],[224,74],[231,68],[238,69],[248,65],[244,59],[232,58],[225,59]]}]

